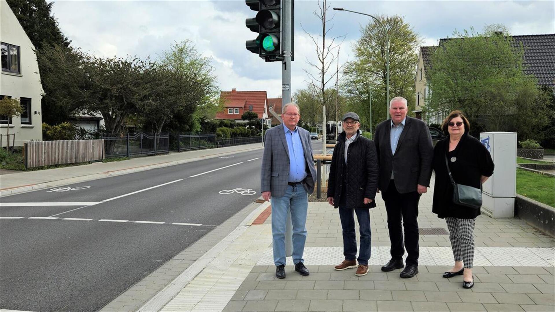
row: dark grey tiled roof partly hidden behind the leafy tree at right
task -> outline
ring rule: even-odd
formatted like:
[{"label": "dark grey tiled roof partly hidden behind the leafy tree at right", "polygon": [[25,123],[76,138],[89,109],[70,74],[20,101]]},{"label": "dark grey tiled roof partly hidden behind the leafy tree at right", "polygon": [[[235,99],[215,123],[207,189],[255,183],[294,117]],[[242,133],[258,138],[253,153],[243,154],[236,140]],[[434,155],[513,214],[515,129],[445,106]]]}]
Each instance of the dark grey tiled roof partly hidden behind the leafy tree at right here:
[{"label": "dark grey tiled roof partly hidden behind the leafy tree at right", "polygon": [[[440,39],[440,46],[450,39]],[[524,47],[524,73],[536,76],[539,85],[555,86],[555,34],[529,34],[513,36],[513,39],[514,46],[522,43]],[[426,70],[426,62],[424,64]]]}]

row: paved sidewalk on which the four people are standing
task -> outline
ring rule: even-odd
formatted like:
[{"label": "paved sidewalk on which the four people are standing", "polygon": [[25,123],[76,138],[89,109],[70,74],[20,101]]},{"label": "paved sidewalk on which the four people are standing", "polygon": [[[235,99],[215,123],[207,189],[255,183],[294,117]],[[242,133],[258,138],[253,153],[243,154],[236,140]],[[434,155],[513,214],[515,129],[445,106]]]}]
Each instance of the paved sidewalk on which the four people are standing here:
[{"label": "paved sidewalk on which the four people are standing", "polygon": [[[433,176],[432,176],[433,185]],[[420,228],[445,230],[431,213],[433,189],[420,201]],[[371,210],[370,273],[335,271],[344,258],[339,214],[327,203],[309,203],[305,264],[275,278],[268,203],[261,204],[218,248],[201,256],[141,311],[553,311],[555,242],[519,219],[476,221],[475,286],[462,288],[452,267],[447,234],[420,235],[420,273],[401,279],[400,270],[382,272],[390,259],[384,202]],[[357,232],[358,235],[358,232]],[[200,268],[199,266],[202,266]]]}]

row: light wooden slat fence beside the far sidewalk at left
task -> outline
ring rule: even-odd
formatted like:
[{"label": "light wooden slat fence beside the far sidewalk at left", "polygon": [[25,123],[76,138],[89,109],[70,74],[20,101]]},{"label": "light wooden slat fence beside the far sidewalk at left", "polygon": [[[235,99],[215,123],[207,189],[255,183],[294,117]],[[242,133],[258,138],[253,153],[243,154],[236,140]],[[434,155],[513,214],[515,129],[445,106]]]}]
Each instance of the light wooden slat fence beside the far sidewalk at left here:
[{"label": "light wooden slat fence beside the far sidewalk at left", "polygon": [[25,143],[26,168],[103,160],[104,140],[60,140]]}]

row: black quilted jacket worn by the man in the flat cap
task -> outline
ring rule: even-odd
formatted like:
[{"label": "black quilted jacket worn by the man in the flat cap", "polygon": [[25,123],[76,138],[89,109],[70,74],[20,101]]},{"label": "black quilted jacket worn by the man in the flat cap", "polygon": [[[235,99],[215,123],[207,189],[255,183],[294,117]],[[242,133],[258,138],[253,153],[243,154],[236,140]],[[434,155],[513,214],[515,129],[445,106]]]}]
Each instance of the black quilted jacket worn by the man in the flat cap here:
[{"label": "black quilted jacket worn by the man in the flat cap", "polygon": [[[344,155],[345,132],[339,135],[335,144],[327,183],[327,197],[334,198],[335,208],[339,206],[344,196],[346,196],[346,207],[376,207],[374,198],[378,187],[378,159],[374,142],[362,137],[359,131],[355,141],[349,144],[346,165]],[[342,194],[344,180],[347,185],[345,194]],[[364,198],[370,198],[372,202],[365,205]]]}]

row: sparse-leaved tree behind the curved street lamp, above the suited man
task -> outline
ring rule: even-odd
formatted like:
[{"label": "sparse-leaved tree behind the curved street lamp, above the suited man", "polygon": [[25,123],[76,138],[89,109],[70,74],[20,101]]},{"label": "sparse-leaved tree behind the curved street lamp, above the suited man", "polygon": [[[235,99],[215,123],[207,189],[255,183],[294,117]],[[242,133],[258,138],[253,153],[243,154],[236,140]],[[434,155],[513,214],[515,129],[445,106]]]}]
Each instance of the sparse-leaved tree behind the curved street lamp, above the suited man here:
[{"label": "sparse-leaved tree behind the curved street lamp, above the suited man", "polygon": [[[408,111],[415,105],[414,77],[418,62],[421,37],[401,16],[377,16],[389,34],[390,97],[407,99]],[[350,99],[351,109],[370,121],[370,98],[372,99],[372,124],[389,118],[386,103],[387,40],[384,28],[369,21],[361,27],[361,38],[355,43],[355,59],[344,68],[342,89]],[[362,117],[364,116],[364,117]]]}]

